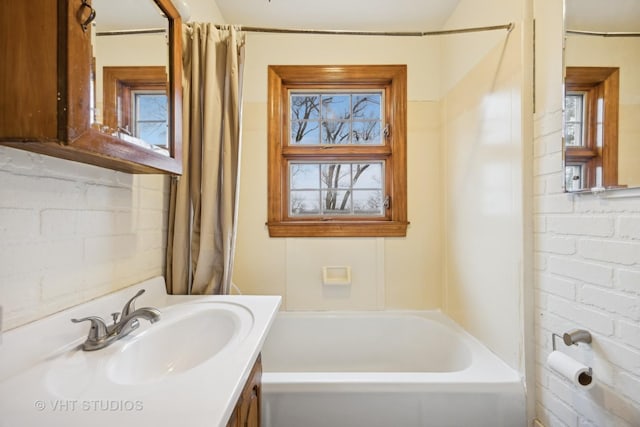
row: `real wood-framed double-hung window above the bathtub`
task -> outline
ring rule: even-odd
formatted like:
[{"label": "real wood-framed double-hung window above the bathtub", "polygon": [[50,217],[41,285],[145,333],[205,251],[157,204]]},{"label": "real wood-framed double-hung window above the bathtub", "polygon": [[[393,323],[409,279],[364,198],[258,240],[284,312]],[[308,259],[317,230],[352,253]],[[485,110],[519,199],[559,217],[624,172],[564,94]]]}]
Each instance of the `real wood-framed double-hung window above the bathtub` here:
[{"label": "real wood-framed double-hung window above the bathtub", "polygon": [[405,236],[406,65],[268,74],[269,235]]}]

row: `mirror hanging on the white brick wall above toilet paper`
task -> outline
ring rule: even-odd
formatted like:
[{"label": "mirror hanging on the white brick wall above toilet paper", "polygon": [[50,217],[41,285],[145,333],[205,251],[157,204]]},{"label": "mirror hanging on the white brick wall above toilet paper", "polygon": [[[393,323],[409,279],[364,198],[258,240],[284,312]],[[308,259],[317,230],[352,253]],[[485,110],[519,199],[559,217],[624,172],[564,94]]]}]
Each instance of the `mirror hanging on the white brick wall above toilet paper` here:
[{"label": "mirror hanging on the white brick wall above toilet paper", "polygon": [[640,2],[565,0],[567,191],[640,187]]}]

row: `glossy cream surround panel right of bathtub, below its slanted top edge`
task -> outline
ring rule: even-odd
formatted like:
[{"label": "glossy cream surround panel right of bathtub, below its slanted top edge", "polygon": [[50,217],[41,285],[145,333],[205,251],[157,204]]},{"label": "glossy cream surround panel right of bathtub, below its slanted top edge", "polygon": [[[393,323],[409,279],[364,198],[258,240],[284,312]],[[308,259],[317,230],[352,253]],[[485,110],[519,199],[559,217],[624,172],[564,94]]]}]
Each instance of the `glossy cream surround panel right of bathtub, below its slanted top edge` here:
[{"label": "glossy cream surround panel right of bathtub, below its slanted top edge", "polygon": [[519,37],[514,30],[443,100],[444,309],[513,367],[522,342]]}]

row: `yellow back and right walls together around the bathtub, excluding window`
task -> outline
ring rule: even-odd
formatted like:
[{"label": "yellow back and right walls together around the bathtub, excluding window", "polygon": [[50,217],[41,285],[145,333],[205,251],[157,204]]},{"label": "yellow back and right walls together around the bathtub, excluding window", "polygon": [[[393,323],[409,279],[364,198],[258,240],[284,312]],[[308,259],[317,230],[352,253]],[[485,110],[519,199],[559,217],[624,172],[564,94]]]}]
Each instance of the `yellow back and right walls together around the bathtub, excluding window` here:
[{"label": "yellow back and right walls together around the bathtub, excluding window", "polygon": [[[519,25],[520,6],[507,3],[482,10],[461,2],[447,27]],[[285,310],[442,308],[523,370],[525,54],[518,25],[508,36],[422,39],[248,34],[234,269],[240,289],[280,294]],[[367,63],[408,65],[408,236],[269,238],[267,66]],[[323,288],[323,265],[352,266],[351,288]]]}]

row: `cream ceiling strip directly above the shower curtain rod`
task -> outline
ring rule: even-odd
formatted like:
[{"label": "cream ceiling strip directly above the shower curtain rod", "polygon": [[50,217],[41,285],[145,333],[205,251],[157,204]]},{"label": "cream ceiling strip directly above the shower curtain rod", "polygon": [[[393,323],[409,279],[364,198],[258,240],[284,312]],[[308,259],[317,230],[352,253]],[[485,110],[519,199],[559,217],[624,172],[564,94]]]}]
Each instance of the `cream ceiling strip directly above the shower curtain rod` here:
[{"label": "cream ceiling strip directly above the shower curtain rod", "polygon": [[430,31],[442,29],[460,0],[215,1],[227,23],[242,26],[313,30]]}]

